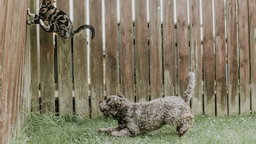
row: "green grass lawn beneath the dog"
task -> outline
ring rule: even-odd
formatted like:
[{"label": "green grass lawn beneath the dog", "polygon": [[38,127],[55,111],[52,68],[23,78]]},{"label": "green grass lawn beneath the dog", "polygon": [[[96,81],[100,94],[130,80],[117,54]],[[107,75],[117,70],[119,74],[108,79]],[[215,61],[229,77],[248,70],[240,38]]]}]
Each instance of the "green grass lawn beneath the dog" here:
[{"label": "green grass lawn beneath the dog", "polygon": [[117,138],[99,133],[100,127],[114,126],[107,118],[88,119],[78,115],[56,117],[51,114],[31,114],[16,143],[255,143],[256,115],[235,117],[197,116],[193,126],[179,138],[174,126],[137,137]]}]

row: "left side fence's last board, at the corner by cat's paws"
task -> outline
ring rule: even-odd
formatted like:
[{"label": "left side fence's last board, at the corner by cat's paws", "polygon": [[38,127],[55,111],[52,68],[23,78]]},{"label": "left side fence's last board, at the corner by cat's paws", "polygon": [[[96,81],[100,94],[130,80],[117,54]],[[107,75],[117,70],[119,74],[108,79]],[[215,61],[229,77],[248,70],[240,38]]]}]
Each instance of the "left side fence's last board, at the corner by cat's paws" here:
[{"label": "left side fence's last board, at the corner by cat's paws", "polygon": [[[30,85],[31,85],[31,76],[30,76],[30,55],[27,53],[30,49],[27,49],[27,38],[26,34],[27,29],[23,29],[26,27],[26,10],[28,6],[28,2],[18,1],[18,34],[16,35],[18,47],[17,54],[18,58],[16,59],[18,65],[18,74],[16,74],[16,88],[15,88],[15,98],[14,106],[15,106],[15,119],[13,122],[13,126],[15,126],[14,134],[19,134],[21,130],[21,124],[25,123],[26,119],[30,115],[31,111],[31,93],[30,93]],[[26,53],[25,53],[26,51]],[[25,99],[25,102],[22,102],[22,99]],[[23,112],[23,113],[22,113]]]}]

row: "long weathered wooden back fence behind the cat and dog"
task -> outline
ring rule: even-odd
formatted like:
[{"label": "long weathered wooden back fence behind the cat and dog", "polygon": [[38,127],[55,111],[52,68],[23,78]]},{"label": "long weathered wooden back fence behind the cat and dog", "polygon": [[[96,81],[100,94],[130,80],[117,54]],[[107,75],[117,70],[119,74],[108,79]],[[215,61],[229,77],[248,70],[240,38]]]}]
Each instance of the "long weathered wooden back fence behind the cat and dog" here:
[{"label": "long weathered wooden back fence behind the cat and dog", "polygon": [[[32,111],[102,116],[98,102],[118,91],[131,102],[183,94],[189,70],[196,74],[194,114],[256,110],[255,2],[86,2],[57,7],[73,14],[75,29],[87,23],[89,7],[93,40],[86,32],[63,39],[29,26]],[[36,7],[30,1],[32,12]]]}]

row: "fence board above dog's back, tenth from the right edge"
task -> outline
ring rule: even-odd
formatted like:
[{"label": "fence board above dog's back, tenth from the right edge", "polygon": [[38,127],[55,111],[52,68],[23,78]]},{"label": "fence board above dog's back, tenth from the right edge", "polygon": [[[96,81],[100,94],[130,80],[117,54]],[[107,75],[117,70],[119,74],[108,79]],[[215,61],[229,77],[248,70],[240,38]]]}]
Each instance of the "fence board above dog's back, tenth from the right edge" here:
[{"label": "fence board above dog's back, tenth from the right edge", "polygon": [[135,63],[137,102],[149,100],[149,52],[146,0],[135,2]]}]

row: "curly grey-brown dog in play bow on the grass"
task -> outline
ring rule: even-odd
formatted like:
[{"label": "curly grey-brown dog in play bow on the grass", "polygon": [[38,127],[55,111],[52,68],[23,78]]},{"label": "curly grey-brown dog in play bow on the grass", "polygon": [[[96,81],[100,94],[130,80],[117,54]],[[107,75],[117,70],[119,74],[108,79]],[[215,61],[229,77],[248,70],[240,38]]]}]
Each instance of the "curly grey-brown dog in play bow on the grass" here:
[{"label": "curly grey-brown dog in play bow on the grass", "polygon": [[189,102],[194,92],[194,73],[189,73],[190,82],[183,97],[164,97],[150,102],[128,102],[122,94],[111,95],[99,102],[102,113],[118,120],[118,126],[101,128],[111,136],[137,135],[157,130],[169,124],[177,126],[178,136],[182,136],[192,125],[194,115]]}]

